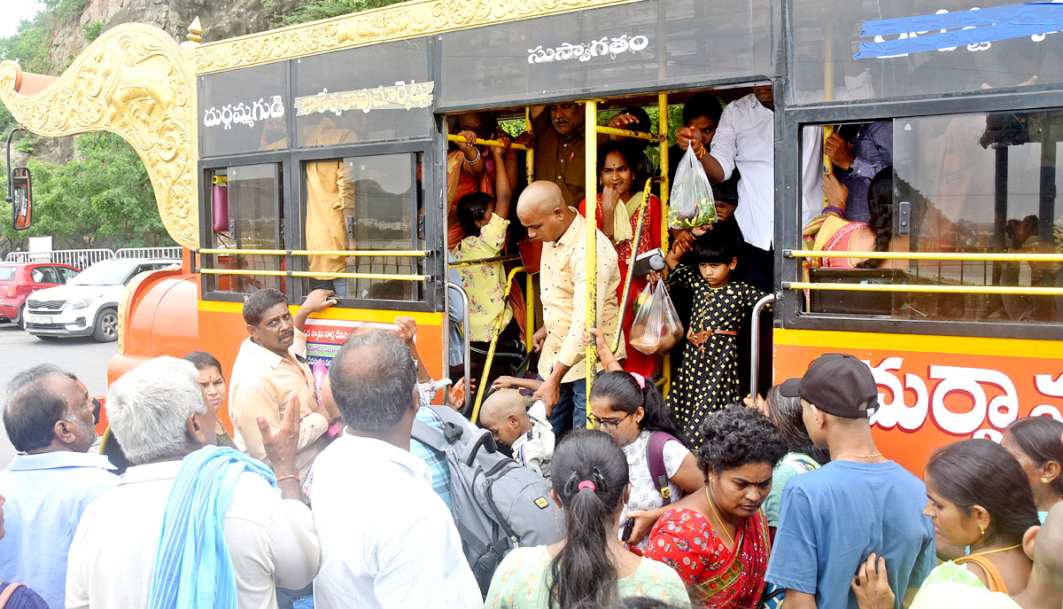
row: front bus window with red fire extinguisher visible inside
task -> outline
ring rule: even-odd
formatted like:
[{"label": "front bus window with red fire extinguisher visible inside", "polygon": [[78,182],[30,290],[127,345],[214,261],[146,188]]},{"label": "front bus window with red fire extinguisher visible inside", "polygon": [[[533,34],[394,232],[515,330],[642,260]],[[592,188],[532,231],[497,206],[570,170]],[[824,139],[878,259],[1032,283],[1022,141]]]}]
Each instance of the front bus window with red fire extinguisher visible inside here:
[{"label": "front bus window with red fire extinguisher visible inside", "polygon": [[[281,232],[281,166],[242,165],[210,174],[210,221],[218,249],[284,249]],[[217,256],[215,266],[240,270],[282,270],[282,258],[271,254]],[[204,266],[208,263],[204,261]],[[266,275],[210,275],[212,290],[248,293],[264,287],[283,290],[280,277]]]}]

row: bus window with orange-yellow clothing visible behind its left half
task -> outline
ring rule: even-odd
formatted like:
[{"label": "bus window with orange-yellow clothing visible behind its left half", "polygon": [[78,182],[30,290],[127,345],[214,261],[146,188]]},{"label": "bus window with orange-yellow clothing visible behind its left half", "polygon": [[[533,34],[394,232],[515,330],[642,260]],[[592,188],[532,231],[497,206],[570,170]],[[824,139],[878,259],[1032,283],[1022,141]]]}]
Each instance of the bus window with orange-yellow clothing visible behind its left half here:
[{"label": "bus window with orange-yellow clothing visible behind its left half", "polygon": [[[424,243],[421,155],[349,157],[308,162],[306,249],[416,250]],[[353,279],[328,274],[420,275],[421,259],[409,257],[308,257],[309,289],[325,287],[340,297],[423,300],[423,290],[404,279]]]}]

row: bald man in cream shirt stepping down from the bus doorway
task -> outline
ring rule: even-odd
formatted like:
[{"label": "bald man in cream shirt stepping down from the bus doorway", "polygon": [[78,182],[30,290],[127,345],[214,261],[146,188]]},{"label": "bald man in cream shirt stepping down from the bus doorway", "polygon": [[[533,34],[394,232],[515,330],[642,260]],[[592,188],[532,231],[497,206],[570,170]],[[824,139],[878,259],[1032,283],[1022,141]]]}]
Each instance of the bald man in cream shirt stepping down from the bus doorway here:
[{"label": "bald man in cream shirt stepping down from the bus doorway", "polygon": [[[543,383],[534,399],[543,400],[554,433],[560,435],[587,425],[587,224],[564,203],[561,188],[547,181],[533,182],[524,190],[517,201],[517,215],[527,228],[528,238],[543,242],[543,327],[534,339],[540,349],[539,377]],[[601,230],[595,245],[597,327],[611,336],[620,319],[620,266],[617,250]],[[624,357],[621,343],[617,359]]]}]

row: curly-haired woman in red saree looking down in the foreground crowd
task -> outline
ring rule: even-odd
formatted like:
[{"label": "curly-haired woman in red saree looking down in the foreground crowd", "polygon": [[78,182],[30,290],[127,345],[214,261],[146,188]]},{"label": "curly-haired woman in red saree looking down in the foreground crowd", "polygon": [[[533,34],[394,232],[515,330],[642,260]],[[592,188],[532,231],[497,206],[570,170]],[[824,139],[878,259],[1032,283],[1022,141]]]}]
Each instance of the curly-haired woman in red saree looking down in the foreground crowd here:
[{"label": "curly-haired woman in red saree looking down in the foreground crowd", "polygon": [[755,609],[771,550],[760,505],[787,446],[767,417],[739,406],[708,417],[702,433],[707,485],[657,521],[643,556],[675,569],[694,607]]}]

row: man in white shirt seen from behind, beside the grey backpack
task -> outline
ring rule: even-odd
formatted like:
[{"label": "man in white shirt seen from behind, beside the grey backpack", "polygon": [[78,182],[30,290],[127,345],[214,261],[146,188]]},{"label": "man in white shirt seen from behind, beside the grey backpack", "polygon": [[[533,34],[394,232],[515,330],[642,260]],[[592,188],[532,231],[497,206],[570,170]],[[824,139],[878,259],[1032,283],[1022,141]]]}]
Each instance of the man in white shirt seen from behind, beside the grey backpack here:
[{"label": "man in white shirt seen from behind, beside the grey backpack", "polygon": [[345,427],[314,462],[315,607],[483,607],[451,512],[409,452],[420,396],[406,344],[389,332],[352,336],[322,400],[335,402]]}]

